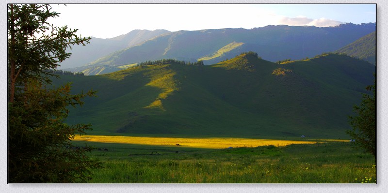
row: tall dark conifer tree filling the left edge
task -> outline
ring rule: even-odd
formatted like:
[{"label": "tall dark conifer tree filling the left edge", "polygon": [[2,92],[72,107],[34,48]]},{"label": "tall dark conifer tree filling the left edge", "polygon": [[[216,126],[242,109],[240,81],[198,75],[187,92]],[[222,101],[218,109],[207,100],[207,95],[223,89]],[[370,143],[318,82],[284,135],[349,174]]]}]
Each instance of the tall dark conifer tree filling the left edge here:
[{"label": "tall dark conifer tree filling the left edge", "polygon": [[90,40],[47,22],[57,16],[49,5],[8,5],[9,183],[87,182],[90,169],[102,166],[86,156],[92,148],[70,143],[91,125],[64,123],[68,106],[82,105],[95,92],[70,94],[70,84],[49,86],[58,62],[70,56],[65,49]]}]

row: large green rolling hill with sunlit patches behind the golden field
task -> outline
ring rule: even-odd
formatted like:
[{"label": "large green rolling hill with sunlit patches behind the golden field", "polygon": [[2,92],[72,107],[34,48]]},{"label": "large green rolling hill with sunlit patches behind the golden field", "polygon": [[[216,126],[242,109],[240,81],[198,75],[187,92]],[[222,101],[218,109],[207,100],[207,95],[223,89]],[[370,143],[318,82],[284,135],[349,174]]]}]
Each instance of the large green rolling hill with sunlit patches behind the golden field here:
[{"label": "large green rolling hill with sunlit patches behind the golden field", "polygon": [[373,73],[372,64],[343,55],[277,64],[242,54],[210,66],[144,65],[54,82],[98,90],[67,120],[92,123],[94,133],[338,138]]}]

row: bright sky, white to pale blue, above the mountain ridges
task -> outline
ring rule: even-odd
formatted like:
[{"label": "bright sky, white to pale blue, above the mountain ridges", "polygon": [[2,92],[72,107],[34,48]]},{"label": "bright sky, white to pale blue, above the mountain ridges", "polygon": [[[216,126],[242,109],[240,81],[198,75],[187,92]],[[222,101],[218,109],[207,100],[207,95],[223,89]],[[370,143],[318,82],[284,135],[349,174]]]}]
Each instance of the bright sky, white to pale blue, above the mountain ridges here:
[{"label": "bright sky, white to pale blue, above the mountain ridges", "polygon": [[376,4],[52,4],[49,21],[79,35],[113,38],[131,30],[252,29],[376,22]]}]

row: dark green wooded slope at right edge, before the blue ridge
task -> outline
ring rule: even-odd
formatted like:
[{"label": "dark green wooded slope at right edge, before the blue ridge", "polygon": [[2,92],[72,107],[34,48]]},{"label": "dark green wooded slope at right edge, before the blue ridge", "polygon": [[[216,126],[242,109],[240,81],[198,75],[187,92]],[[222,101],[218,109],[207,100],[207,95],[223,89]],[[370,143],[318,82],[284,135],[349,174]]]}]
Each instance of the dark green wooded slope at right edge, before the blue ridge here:
[{"label": "dark green wooded slope at right edge, before the blue ridge", "polygon": [[336,52],[364,59],[376,65],[376,31],[342,47]]}]

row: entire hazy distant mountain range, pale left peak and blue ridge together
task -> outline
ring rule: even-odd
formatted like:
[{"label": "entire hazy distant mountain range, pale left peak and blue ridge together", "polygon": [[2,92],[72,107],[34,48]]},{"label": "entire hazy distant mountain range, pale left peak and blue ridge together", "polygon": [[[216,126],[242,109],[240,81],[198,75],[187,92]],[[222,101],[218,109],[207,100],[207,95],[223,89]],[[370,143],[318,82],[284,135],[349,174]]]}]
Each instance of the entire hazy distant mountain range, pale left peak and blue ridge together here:
[{"label": "entire hazy distant mountain range, pale left peak and blue ridge together", "polygon": [[65,60],[63,68],[71,64],[78,68],[67,70],[104,74],[120,70],[119,66],[156,59],[202,59],[212,64],[247,51],[269,61],[303,59],[339,50],[373,31],[375,23],[324,28],[279,25],[250,30],[134,30],[112,39],[92,39],[91,44],[74,49],[78,56]]}]

